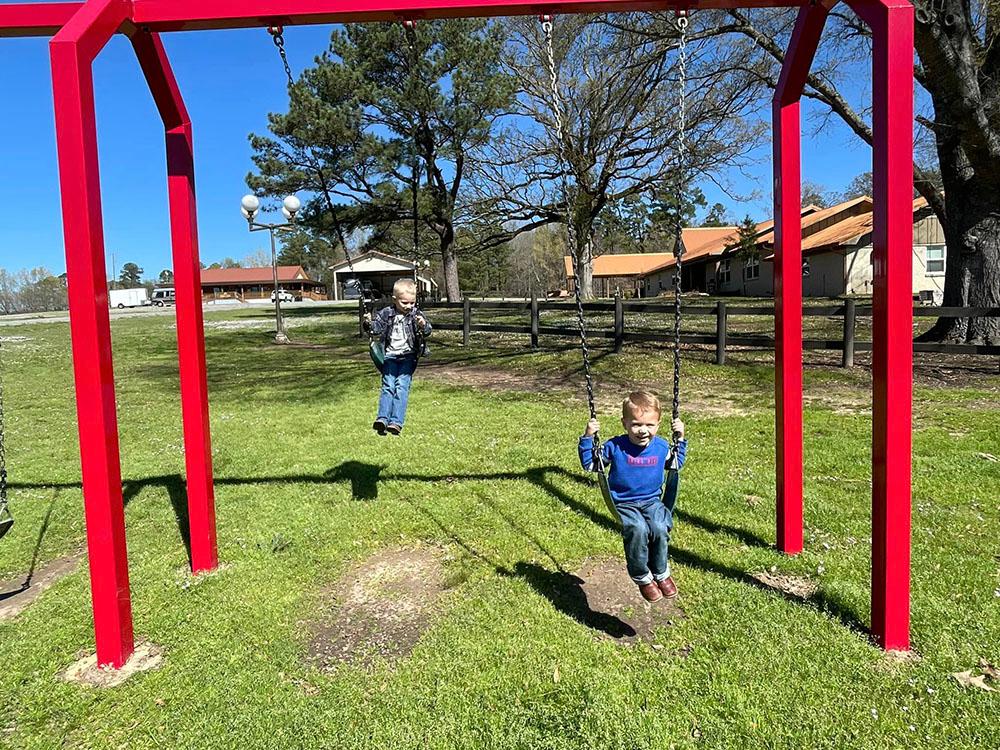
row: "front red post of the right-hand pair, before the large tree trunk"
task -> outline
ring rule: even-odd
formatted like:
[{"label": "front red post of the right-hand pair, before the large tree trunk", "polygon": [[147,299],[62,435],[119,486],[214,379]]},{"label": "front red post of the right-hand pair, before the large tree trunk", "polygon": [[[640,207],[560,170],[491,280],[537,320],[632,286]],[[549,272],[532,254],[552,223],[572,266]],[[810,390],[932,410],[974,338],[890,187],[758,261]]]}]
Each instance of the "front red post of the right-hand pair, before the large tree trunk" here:
[{"label": "front red post of the right-hand pair, before the large tree trunk", "polygon": [[905,0],[865,5],[868,7],[856,10],[871,27],[873,39],[872,633],[882,648],[908,650],[913,6]]}]

